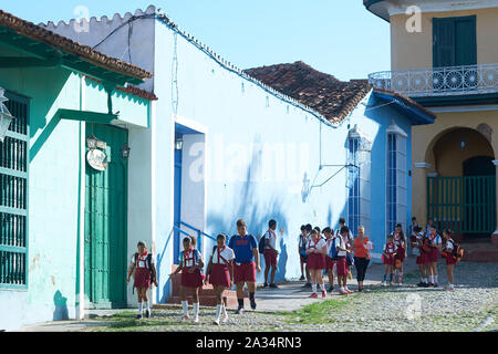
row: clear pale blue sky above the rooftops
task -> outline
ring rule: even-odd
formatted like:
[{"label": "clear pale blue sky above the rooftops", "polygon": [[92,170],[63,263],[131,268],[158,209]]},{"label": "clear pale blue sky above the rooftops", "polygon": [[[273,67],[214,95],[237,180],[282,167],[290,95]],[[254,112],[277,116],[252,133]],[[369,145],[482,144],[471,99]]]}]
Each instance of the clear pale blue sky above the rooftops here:
[{"label": "clear pale blue sky above the rooftops", "polygon": [[241,69],[302,60],[341,80],[390,70],[388,23],[362,0],[17,0],[1,9],[34,23],[162,8],[181,29]]}]

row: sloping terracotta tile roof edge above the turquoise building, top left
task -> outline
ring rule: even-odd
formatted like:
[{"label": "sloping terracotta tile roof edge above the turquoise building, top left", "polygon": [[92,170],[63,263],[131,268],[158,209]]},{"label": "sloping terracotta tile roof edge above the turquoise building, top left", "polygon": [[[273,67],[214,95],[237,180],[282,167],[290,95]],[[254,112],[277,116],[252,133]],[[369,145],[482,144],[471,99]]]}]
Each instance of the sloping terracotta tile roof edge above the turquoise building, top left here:
[{"label": "sloping terracotta tile roof edge above the turquoise building, top left", "polygon": [[90,64],[104,67],[118,74],[124,74],[138,80],[145,80],[153,76],[149,72],[138,66],[105,55],[87,45],[76,43],[65,37],[55,34],[52,31],[19,19],[2,10],[0,10],[0,27],[10,29],[18,34],[30,38],[34,41],[49,44],[50,46],[59,49],[68,54],[75,55]]}]

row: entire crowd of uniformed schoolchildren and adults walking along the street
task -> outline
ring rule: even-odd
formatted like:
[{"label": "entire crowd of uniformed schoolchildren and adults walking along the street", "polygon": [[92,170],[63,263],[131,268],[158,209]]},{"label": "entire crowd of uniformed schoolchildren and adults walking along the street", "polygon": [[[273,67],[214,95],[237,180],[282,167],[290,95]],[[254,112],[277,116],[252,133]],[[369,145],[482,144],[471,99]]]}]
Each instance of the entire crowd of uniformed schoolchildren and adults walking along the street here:
[{"label": "entire crowd of uniformed schoolchildren and adults walking along the street", "polygon": [[[274,230],[277,222],[270,220],[269,231],[264,235],[266,248],[264,258],[270,264],[267,264],[266,287],[268,287],[268,266],[277,266],[278,251],[276,242],[271,238],[277,238]],[[183,239],[184,250],[179,254],[178,268],[170,274],[174,277],[181,272],[180,298],[183,306],[183,320],[190,320],[188,312],[188,298],[193,298],[194,322],[199,321],[199,292],[203,284],[210,283],[214,288],[217,308],[214,323],[219,325],[228,321],[226,290],[236,285],[238,310],[237,314],[243,313],[245,289],[249,292],[249,300],[252,310],[256,310],[256,273],[261,271],[259,264],[259,249],[257,239],[248,235],[247,226],[243,220],[237,221],[238,235],[228,237],[220,233],[217,237],[217,243],[212,248],[211,256],[206,270],[203,254],[196,249],[196,239],[186,237]],[[421,282],[418,287],[438,287],[437,261],[439,253],[446,259],[447,275],[449,280],[445,290],[454,290],[453,268],[461,258],[463,250],[455,243],[450,230],[443,232],[443,238],[437,233],[436,227],[429,223],[427,231],[424,232],[418,225],[412,222],[409,242],[415,256],[416,263],[421,271]],[[323,235],[323,236],[322,236]],[[366,269],[372,260],[371,251],[373,243],[365,236],[364,227],[360,226],[357,236],[354,238],[352,231],[345,226],[345,220],[340,219],[340,227],[336,232],[330,227],[321,230],[311,225],[301,227],[299,236],[299,254],[301,259],[301,280],[307,279],[304,287],[311,288],[310,298],[319,298],[318,287],[320,287],[321,298],[326,298],[328,292],[334,291],[334,270],[339,285],[339,294],[347,295],[353,293],[347,288],[347,279],[352,279],[351,268],[356,268],[356,280],[359,292],[364,291],[363,281]],[[406,258],[407,239],[404,236],[402,225],[397,225],[395,231],[387,236],[386,243],[382,252],[384,267],[384,279],[382,285],[395,284],[397,272],[397,284],[403,284],[403,262]],[[154,258],[147,252],[144,242],[138,243],[138,252],[132,258],[132,264],[128,270],[127,283],[135,272],[134,288],[138,294],[138,314],[143,317],[145,304],[145,315],[151,316],[147,290],[154,283],[157,283],[157,271],[154,264]],[[305,273],[305,275],[304,275]],[[325,289],[323,274],[328,274],[329,288]],[[271,272],[271,288],[278,288],[274,284],[274,272]]]}]

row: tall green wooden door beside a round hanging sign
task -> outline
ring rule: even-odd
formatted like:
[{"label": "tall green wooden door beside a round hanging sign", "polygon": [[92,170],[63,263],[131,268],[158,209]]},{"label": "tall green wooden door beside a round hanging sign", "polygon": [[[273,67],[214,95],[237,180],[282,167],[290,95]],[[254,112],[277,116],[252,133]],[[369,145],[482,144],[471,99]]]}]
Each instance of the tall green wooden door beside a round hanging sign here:
[{"label": "tall green wooden door beside a round hanging sign", "polygon": [[86,124],[86,136],[107,144],[105,171],[86,163],[85,294],[91,308],[126,305],[127,131]]}]

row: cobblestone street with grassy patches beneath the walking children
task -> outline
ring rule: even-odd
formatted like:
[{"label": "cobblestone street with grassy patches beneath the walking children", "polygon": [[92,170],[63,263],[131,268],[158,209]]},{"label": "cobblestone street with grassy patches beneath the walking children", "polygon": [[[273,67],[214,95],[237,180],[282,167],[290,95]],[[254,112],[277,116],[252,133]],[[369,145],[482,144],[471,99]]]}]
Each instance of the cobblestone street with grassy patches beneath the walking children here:
[{"label": "cobblestone street with grassy patches beneath the walking children", "polygon": [[[455,270],[456,290],[444,291],[445,266],[439,264],[436,289],[417,288],[418,272],[407,262],[403,287],[381,287],[382,266],[370,270],[367,292],[349,296],[333,293],[326,300],[308,299],[302,282],[283,284],[281,295],[259,291],[258,312],[247,311],[221,326],[212,325],[214,309],[201,309],[200,323],[180,321],[180,309],[154,310],[149,320],[135,320],[135,311],[101,315],[82,322],[52,323],[24,331],[149,331],[149,332],[452,332],[498,331],[498,278],[496,263],[461,262]],[[350,281],[351,284],[355,280]],[[355,285],[350,287],[355,290]],[[293,291],[292,291],[293,289]],[[288,298],[286,298],[288,296]],[[287,299],[287,300],[286,300]],[[284,309],[286,311],[279,311]],[[289,310],[293,309],[293,310]]]}]

